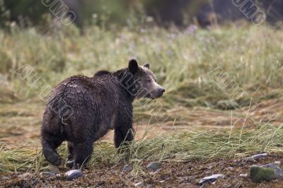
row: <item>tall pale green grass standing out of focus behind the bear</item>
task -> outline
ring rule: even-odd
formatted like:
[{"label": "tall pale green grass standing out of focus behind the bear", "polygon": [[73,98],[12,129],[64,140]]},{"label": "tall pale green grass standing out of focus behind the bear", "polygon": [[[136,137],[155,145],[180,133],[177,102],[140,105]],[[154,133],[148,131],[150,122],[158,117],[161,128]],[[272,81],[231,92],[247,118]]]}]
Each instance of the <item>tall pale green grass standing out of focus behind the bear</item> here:
[{"label": "tall pale green grass standing out of focus behind the bear", "polygon": [[[268,25],[199,28],[195,33],[176,28],[91,27],[83,35],[73,26],[47,34],[15,26],[11,33],[0,30],[0,73],[8,76],[19,98],[28,98],[36,94],[14,74],[24,64],[55,86],[74,74],[92,76],[100,69],[121,69],[130,57],[137,57],[140,64],[151,63],[166,88],[164,104],[217,108],[217,102],[229,99],[207,75],[217,67],[254,100],[281,97],[281,90],[269,94],[282,86],[282,40],[282,30]],[[234,100],[241,103],[241,98]]]}]

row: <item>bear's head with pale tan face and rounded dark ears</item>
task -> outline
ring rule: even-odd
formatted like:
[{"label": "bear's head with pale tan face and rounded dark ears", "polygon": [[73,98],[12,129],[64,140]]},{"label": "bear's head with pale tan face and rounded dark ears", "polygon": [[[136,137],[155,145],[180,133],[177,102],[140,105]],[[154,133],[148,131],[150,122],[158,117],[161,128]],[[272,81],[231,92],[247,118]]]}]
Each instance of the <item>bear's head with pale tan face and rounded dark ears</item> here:
[{"label": "bear's head with pale tan face and rounded dark ears", "polygon": [[132,74],[132,86],[129,87],[129,93],[134,98],[160,98],[165,89],[156,83],[156,76],[149,69],[149,64],[139,66],[135,59],[129,61],[129,73]]}]

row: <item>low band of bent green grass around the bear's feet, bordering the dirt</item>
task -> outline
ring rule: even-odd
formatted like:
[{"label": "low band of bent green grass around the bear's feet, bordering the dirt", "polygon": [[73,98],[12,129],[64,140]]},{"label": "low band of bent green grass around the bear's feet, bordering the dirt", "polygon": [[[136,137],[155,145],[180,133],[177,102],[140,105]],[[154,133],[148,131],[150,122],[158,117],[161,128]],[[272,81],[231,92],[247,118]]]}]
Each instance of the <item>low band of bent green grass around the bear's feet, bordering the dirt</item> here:
[{"label": "low band of bent green grass around the bear's feet, bordering the dirt", "polygon": [[[260,129],[231,131],[182,131],[175,135],[165,134],[153,139],[140,139],[117,153],[111,143],[95,144],[89,165],[115,165],[130,163],[140,167],[141,163],[151,160],[188,161],[213,160],[215,158],[243,158],[253,153],[283,153],[282,126],[262,124]],[[65,160],[67,146],[59,148]],[[63,161],[64,161],[63,160]],[[45,170],[47,162],[40,148],[0,148],[0,172],[25,172]],[[139,168],[135,168],[137,170]]]}]

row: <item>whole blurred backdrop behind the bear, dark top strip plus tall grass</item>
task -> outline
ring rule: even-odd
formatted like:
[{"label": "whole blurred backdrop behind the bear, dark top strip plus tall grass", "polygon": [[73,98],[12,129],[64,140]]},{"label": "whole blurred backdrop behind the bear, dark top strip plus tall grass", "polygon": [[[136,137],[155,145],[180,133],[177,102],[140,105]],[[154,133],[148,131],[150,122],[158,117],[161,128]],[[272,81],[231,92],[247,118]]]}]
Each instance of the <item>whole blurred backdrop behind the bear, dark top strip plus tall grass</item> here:
[{"label": "whole blurred backdrop behind the bear, dark top strip plus tall grass", "polygon": [[169,108],[239,108],[207,74],[220,66],[258,101],[281,86],[282,16],[281,0],[0,0],[0,94],[11,93],[0,101],[38,95],[15,74],[25,64],[53,87],[136,57],[168,88]]}]

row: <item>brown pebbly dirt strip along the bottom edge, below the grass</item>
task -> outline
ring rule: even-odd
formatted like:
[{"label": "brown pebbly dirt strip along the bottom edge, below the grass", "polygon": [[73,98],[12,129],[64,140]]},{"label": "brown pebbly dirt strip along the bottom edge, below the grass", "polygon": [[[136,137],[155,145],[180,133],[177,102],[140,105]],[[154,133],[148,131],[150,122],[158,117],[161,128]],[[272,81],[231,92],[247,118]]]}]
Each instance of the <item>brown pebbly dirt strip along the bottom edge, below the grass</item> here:
[{"label": "brown pebbly dirt strip along the bottom edge, below the grass", "polygon": [[263,165],[282,161],[283,155],[270,153],[268,157],[253,162],[234,160],[212,160],[207,162],[191,161],[187,163],[163,162],[156,171],[147,170],[144,163],[144,173],[138,177],[131,175],[131,170],[123,170],[123,165],[97,166],[84,170],[79,179],[65,180],[64,172],[60,169],[57,177],[41,177],[40,173],[31,173],[21,177],[20,173],[0,175],[1,187],[200,187],[198,182],[202,177],[213,174],[224,174],[226,177],[216,180],[214,184],[204,187],[283,187],[283,180],[253,183],[248,177],[240,174],[248,173],[250,165]]}]

